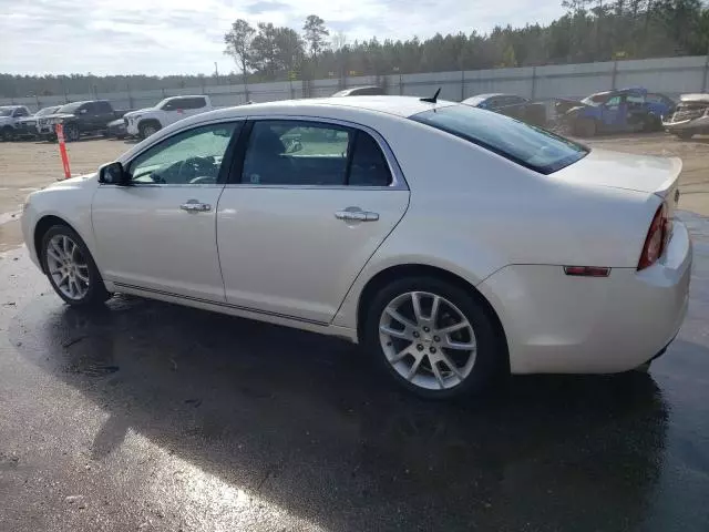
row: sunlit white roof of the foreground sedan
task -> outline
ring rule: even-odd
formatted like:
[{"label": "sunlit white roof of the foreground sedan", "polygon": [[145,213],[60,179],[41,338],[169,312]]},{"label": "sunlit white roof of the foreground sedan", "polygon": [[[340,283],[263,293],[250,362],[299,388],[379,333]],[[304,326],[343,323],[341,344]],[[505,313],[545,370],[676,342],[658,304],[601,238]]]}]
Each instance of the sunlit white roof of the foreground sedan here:
[{"label": "sunlit white roof of the foreground sedan", "polygon": [[[309,100],[285,100],[277,102],[253,103],[250,105],[238,105],[234,108],[212,111],[214,117],[247,116],[259,114],[284,114],[318,116],[325,114],[332,108],[346,108],[357,111],[373,111],[393,114],[401,117],[409,117],[423,111],[449,105],[458,105],[454,102],[439,101],[436,103],[422,102],[415,96],[351,96],[351,98],[319,98]],[[202,115],[198,115],[202,116]]]}]

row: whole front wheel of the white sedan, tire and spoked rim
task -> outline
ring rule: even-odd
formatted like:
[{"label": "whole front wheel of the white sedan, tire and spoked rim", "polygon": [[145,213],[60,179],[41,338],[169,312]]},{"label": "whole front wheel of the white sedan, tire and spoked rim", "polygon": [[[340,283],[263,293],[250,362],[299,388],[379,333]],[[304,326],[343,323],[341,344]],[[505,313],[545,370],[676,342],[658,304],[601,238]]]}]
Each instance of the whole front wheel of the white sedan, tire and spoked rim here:
[{"label": "whole front wheel of the white sedan, tire and spoked rim", "polygon": [[89,248],[70,227],[50,227],[42,236],[41,256],[52,288],[66,304],[85,307],[111,297]]}]

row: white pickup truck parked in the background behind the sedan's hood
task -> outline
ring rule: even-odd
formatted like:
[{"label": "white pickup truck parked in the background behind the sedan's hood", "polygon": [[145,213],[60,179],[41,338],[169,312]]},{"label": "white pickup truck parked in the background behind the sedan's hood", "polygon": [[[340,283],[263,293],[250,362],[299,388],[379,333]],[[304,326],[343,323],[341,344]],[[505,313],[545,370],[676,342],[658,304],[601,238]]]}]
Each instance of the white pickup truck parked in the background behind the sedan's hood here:
[{"label": "white pickup truck parked in the background behind the sedan's hood", "polygon": [[209,96],[171,96],[154,108],[125,113],[125,127],[129,135],[146,139],[178,120],[213,109]]}]

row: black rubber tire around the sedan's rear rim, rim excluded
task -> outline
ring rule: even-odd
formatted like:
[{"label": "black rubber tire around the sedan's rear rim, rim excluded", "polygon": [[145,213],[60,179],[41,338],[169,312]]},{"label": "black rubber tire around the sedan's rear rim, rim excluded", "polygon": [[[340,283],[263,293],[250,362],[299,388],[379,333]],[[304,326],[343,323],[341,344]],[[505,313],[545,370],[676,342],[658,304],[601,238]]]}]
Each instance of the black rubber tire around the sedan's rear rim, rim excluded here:
[{"label": "black rubber tire around the sedan's rear rim, rim excluded", "polygon": [[[420,388],[403,377],[389,364],[379,341],[379,320],[386,306],[394,297],[407,291],[429,291],[444,297],[455,305],[473,326],[477,345],[475,365],[465,380],[454,388],[428,390]],[[484,392],[506,367],[506,350],[501,331],[494,325],[490,311],[480,297],[463,288],[434,277],[408,277],[395,280],[382,288],[371,300],[364,317],[363,347],[378,365],[384,368],[395,381],[408,390],[427,399],[449,399]]]}]

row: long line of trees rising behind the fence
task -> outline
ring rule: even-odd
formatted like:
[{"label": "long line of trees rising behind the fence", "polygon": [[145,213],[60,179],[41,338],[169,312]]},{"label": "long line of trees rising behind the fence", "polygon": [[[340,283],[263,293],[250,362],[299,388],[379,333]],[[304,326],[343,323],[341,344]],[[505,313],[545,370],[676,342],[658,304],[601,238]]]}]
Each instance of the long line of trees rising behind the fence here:
[{"label": "long line of trees rising behind the fence", "polygon": [[298,30],[236,20],[224,35],[234,61],[226,75],[20,76],[0,74],[6,98],[312,80],[353,75],[480,70],[614,59],[703,55],[709,8],[701,0],[564,0],[566,13],[547,25],[496,27],[420,40],[349,42],[316,14]]}]

